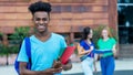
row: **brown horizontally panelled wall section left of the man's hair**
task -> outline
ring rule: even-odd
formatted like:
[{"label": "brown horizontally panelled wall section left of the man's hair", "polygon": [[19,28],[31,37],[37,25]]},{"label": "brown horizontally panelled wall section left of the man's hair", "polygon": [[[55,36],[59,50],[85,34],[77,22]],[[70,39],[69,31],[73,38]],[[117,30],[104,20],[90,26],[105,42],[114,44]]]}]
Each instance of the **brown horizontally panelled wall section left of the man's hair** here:
[{"label": "brown horizontally panelled wall section left of the man's hair", "polygon": [[0,0],[0,32],[12,33],[16,26],[29,25],[31,14],[28,4],[21,0]]}]

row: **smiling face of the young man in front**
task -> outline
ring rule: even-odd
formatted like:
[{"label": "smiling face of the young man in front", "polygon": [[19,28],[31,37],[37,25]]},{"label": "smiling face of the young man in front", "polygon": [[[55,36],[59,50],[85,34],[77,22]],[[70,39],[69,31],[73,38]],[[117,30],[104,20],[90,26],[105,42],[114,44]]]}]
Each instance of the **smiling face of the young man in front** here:
[{"label": "smiling face of the young man in front", "polygon": [[40,33],[48,31],[48,24],[49,24],[49,14],[44,11],[38,11],[34,13],[33,22],[35,30]]}]

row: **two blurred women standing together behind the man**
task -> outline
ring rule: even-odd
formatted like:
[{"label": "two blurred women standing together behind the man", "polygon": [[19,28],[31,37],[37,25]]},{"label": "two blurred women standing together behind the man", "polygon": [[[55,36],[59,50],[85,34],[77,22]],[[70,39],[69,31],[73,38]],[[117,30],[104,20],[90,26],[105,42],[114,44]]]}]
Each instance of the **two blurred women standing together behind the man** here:
[{"label": "two blurred women standing together behind the man", "polygon": [[[111,35],[109,26],[102,29],[101,38],[96,44],[93,43],[92,38],[93,30],[89,26],[84,28],[78,45],[78,53],[81,58],[84,75],[93,75],[93,71],[96,71],[95,62],[98,58],[100,58],[102,75],[113,75],[115,68],[116,41]],[[95,47],[95,45],[98,45],[98,47]],[[99,51],[99,53],[95,53],[95,50]]]}]

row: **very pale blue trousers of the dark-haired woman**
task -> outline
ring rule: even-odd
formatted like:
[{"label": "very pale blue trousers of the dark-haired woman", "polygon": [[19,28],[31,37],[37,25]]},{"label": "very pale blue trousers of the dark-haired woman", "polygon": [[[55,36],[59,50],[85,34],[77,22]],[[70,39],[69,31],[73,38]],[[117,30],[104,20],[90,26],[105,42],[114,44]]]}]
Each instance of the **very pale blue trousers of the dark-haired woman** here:
[{"label": "very pale blue trousers of the dark-haired woman", "polygon": [[84,75],[93,75],[93,57],[86,57],[81,62]]}]

